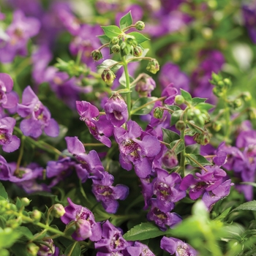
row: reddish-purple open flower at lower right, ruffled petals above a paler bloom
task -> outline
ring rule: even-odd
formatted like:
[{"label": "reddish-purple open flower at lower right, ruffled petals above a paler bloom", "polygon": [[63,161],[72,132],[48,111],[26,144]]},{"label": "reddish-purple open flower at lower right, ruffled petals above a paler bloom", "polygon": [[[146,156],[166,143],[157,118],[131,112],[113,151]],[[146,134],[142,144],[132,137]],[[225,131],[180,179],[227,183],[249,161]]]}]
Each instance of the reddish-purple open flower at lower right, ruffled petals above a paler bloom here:
[{"label": "reddish-purple open flower at lower right, ruffled petals above a paler bloom", "polygon": [[224,170],[218,166],[206,166],[206,170],[202,170],[201,173],[195,173],[197,178],[194,178],[192,174],[189,174],[181,181],[181,190],[189,189],[189,197],[192,200],[196,200],[203,192],[212,191],[222,184],[222,178],[227,176]]}]

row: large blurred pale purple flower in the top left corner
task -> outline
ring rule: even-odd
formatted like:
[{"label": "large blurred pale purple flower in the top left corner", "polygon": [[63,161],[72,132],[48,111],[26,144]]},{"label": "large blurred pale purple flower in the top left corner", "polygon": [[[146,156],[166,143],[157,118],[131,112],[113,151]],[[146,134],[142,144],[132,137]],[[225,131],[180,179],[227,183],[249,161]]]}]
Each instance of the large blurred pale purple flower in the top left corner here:
[{"label": "large blurred pale purple flower in the top left corner", "polygon": [[10,62],[16,55],[26,56],[27,42],[39,32],[40,23],[36,18],[26,18],[22,11],[16,10],[12,24],[7,28],[7,41],[0,39],[0,61]]}]

